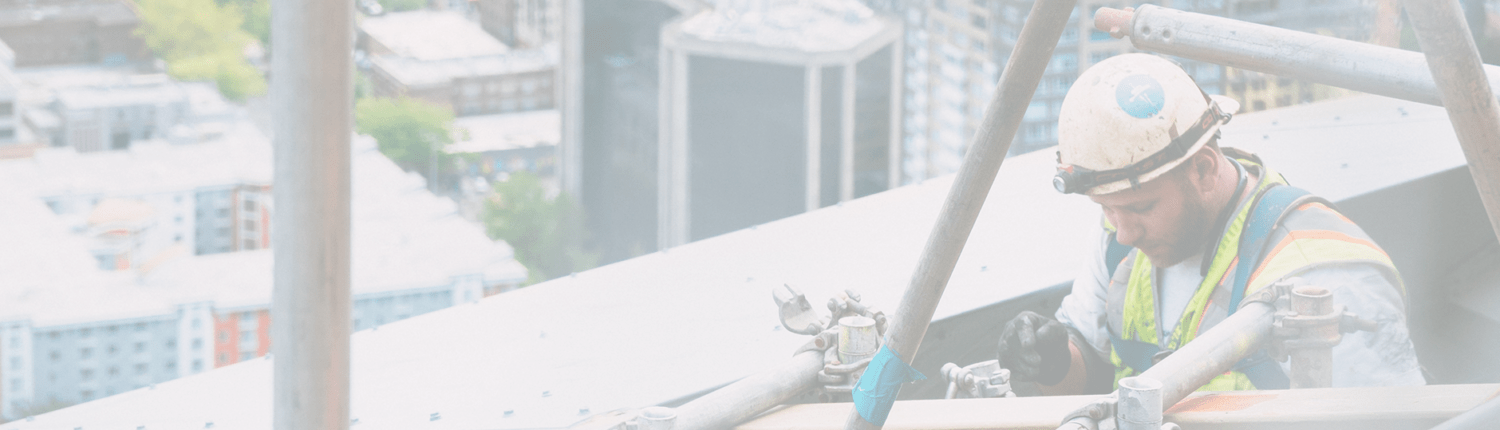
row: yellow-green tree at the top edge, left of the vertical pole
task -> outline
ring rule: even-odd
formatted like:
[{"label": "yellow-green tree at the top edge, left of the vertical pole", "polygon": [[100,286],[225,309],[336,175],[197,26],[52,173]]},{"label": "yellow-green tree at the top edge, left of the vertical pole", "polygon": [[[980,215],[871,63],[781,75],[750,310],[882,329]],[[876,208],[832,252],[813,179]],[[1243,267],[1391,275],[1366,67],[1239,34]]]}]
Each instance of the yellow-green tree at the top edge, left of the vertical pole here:
[{"label": "yellow-green tree at the top edge, left of the vertical pole", "polygon": [[[243,55],[254,36],[244,31],[244,12],[238,6],[213,0],[140,0],[138,4],[136,34],[166,61],[172,78],[214,81],[232,100],[266,93],[266,78]],[[268,7],[267,3],[267,13]]]}]

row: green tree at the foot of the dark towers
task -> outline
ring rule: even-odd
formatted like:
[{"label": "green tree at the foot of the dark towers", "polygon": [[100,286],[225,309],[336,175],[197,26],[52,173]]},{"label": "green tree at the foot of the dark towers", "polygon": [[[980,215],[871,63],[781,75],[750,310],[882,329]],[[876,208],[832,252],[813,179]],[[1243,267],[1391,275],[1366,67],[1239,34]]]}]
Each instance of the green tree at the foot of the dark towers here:
[{"label": "green tree at the foot of the dark towers", "polygon": [[484,231],[506,240],[526,267],[526,283],[594,268],[598,253],[585,247],[584,213],[566,193],[548,198],[542,180],[528,172],[496,183],[484,201]]}]

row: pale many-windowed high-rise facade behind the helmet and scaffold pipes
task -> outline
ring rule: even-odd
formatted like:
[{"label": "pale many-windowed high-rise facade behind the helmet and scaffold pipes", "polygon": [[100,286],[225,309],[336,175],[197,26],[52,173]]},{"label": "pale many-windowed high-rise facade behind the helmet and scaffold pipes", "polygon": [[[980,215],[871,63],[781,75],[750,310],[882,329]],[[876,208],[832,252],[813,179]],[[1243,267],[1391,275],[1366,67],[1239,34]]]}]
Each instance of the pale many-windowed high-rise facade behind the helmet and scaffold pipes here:
[{"label": "pale many-windowed high-rise facade behind the helmet and scaffold pipes", "polygon": [[[906,21],[906,127],[903,178],[914,183],[956,172],[994,93],[1016,39],[1035,0],[868,0]],[[1245,19],[1300,31],[1366,40],[1374,6],[1360,0],[1161,0],[1167,7]],[[1068,21],[1026,109],[1011,153],[1056,145],[1058,112],[1078,73],[1104,58],[1136,52],[1130,40],[1094,28],[1100,7],[1138,1],[1084,0]],[[1305,103],[1344,91],[1254,72],[1173,58],[1204,91],[1227,94],[1244,111]],[[1258,106],[1258,108],[1257,108]]]}]

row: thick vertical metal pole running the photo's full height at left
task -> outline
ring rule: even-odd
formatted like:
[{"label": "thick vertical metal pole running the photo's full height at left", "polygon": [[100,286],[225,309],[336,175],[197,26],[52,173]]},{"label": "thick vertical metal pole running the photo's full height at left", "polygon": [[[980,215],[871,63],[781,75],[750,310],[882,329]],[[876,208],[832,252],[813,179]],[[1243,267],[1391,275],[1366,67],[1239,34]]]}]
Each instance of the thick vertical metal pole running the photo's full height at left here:
[{"label": "thick vertical metal pole running the photo's full height at left", "polygon": [[274,427],[350,426],[354,1],[273,0]]}]

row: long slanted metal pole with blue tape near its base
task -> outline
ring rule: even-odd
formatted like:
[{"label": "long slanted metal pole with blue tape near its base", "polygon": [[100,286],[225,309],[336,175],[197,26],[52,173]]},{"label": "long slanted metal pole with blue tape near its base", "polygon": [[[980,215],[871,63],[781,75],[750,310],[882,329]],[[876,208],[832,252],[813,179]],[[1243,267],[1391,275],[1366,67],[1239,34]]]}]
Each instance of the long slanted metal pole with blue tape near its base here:
[{"label": "long slanted metal pole with blue tape near its base", "polygon": [[[927,237],[922,259],[916,264],[912,282],[885,334],[885,346],[908,363],[916,357],[916,348],[922,343],[922,334],[927,333],[938,301],[942,300],[952,267],[969,240],[974,220],[984,207],[984,198],[988,196],[994,175],[1011,148],[1022,115],[1036,93],[1036,82],[1041,81],[1047,61],[1052,60],[1052,51],[1058,46],[1062,30],[1068,27],[1068,16],[1077,3],[1077,0],[1040,0],[1026,16],[1026,25],[1022,27],[1011,51],[1011,60],[1005,64],[999,87],[986,108],[984,123],[969,144],[963,165],[958,166],[958,177],[954,178],[944,201],[938,225]],[[894,396],[892,393],[891,402]],[[850,411],[844,429],[880,429],[880,426],[866,421],[858,411]]]}]

